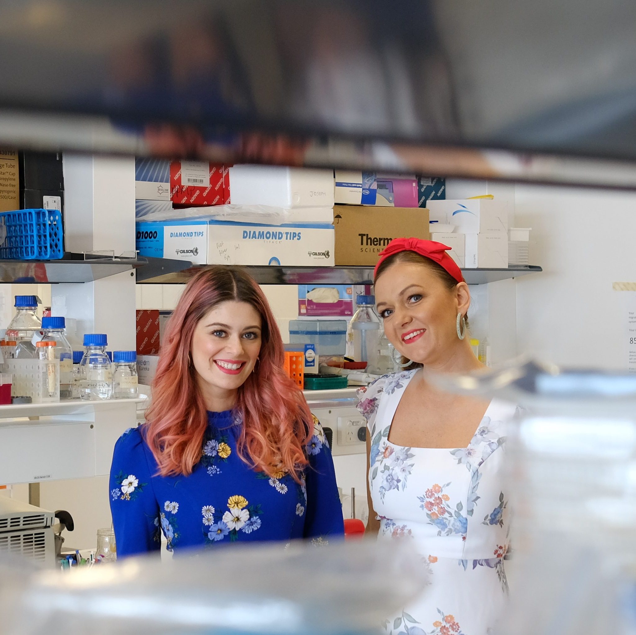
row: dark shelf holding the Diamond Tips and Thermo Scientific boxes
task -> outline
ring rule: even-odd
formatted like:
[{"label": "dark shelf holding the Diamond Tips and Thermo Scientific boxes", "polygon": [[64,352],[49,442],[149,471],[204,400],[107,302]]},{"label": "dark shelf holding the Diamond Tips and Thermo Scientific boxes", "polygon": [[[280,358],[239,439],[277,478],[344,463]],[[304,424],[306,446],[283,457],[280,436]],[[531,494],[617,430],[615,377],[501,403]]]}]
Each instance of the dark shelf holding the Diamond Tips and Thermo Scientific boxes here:
[{"label": "dark shelf holding the Diamond Tips and Thermo Scientific boxes", "polygon": [[[179,263],[179,265],[175,264]],[[186,284],[199,270],[211,265],[192,265],[181,260],[148,258],[148,265],[137,270],[137,283]],[[257,267],[245,270],[259,284],[371,284],[373,267]],[[541,272],[541,267],[509,269],[462,269],[468,284],[487,284]]]}]

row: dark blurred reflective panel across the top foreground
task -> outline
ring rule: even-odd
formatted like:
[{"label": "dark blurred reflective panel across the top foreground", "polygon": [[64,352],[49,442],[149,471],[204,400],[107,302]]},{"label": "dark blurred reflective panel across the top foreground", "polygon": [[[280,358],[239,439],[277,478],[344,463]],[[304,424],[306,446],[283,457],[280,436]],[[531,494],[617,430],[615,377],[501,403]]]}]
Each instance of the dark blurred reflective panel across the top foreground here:
[{"label": "dark blurred reflective panel across the top foreground", "polygon": [[12,0],[0,143],[636,186],[633,0]]}]

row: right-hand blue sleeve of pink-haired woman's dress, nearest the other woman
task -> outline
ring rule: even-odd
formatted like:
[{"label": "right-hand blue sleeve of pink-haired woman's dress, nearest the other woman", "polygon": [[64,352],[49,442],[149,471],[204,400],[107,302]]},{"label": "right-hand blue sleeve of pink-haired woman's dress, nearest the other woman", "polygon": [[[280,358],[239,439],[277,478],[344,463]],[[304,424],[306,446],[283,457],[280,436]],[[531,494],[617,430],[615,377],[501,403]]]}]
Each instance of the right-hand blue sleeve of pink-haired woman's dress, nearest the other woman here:
[{"label": "right-hand blue sleeve of pink-haired woman's dress, nearest the other woman", "polygon": [[322,536],[342,536],[344,522],[333,458],[322,426],[316,417],[314,435],[307,445],[307,455],[307,513],[303,536],[316,539]]}]

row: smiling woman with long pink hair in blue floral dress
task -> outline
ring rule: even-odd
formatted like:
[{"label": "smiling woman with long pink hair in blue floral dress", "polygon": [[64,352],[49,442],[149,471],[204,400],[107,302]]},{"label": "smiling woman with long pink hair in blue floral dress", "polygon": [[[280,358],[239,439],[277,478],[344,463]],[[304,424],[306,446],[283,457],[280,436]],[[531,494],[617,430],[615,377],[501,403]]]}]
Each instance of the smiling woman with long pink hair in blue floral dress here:
[{"label": "smiling woman with long pink hair in blue floral dress", "polygon": [[146,423],[115,445],[120,556],[343,534],[331,452],[283,370],[272,310],[244,271],[213,267],[167,326]]}]

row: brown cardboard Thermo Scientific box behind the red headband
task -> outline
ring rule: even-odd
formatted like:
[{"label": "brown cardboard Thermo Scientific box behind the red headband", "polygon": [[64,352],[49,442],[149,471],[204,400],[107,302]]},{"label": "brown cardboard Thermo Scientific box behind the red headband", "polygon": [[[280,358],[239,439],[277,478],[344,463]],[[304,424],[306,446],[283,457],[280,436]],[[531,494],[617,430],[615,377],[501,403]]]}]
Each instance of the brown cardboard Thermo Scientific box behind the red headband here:
[{"label": "brown cardboard Thermo Scientific box behind the red headband", "polygon": [[394,238],[430,239],[429,213],[421,207],[336,205],[336,265],[374,267],[378,255]]}]

